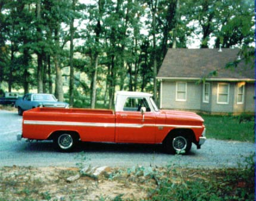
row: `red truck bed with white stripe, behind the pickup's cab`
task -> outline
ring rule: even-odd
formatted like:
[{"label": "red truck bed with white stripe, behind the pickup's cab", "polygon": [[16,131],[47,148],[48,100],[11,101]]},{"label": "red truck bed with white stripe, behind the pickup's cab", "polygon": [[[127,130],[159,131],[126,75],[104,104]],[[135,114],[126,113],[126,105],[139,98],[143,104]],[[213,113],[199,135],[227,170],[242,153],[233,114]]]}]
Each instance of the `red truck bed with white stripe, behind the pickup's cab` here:
[{"label": "red truck bed with white stripe, behind the pickup's cab", "polygon": [[23,137],[48,139],[57,131],[74,131],[82,141],[114,142],[115,114],[109,109],[34,108],[23,113]]}]

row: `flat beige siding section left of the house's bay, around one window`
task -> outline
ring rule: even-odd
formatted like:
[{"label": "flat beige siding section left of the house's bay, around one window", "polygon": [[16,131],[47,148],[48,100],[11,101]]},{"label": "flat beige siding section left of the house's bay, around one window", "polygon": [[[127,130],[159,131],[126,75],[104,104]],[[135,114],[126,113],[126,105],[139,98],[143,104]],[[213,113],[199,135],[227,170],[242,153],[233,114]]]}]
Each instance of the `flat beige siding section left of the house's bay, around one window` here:
[{"label": "flat beige siding section left of the house's bay, around one window", "polygon": [[202,100],[201,85],[196,84],[195,81],[186,81],[186,101],[176,101],[176,83],[176,81],[163,81],[161,108],[200,110]]}]

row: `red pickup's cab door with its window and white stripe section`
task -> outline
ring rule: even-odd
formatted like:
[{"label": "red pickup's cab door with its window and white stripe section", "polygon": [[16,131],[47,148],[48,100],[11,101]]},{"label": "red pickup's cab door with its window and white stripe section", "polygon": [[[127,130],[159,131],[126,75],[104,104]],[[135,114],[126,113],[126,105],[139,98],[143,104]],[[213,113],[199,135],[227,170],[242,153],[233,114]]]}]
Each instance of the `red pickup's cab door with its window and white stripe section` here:
[{"label": "red pickup's cab door with its window and white stripe section", "polygon": [[[144,114],[142,107],[146,108]],[[156,115],[145,98],[127,98],[116,118],[115,142],[155,143]]]}]

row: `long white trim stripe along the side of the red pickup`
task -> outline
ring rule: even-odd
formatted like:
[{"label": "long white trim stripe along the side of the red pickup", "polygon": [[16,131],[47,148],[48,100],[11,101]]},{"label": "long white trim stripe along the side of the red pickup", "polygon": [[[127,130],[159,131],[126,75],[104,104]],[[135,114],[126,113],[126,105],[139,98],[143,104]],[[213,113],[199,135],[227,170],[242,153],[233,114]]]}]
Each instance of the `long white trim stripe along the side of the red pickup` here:
[{"label": "long white trim stripe along the side of the red pickup", "polygon": [[115,123],[83,123],[71,121],[31,121],[24,120],[29,125],[73,125],[83,127],[119,127],[119,128],[142,128],[142,127],[172,127],[172,128],[202,128],[200,125],[171,125],[171,124],[115,124]]}]

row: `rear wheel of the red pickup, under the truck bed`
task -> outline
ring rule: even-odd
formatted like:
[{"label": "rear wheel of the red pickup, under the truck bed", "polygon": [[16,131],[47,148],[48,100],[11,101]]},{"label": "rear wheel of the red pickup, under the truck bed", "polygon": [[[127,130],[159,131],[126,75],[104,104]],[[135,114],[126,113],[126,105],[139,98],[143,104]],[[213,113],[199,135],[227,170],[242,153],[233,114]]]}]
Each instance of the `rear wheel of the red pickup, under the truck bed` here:
[{"label": "rear wheel of the red pickup, under the truck bed", "polygon": [[69,152],[77,143],[77,137],[73,133],[61,133],[54,139],[57,148],[63,152]]}]

